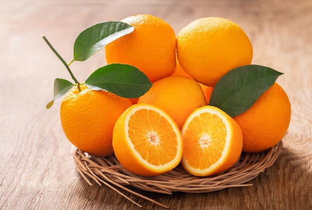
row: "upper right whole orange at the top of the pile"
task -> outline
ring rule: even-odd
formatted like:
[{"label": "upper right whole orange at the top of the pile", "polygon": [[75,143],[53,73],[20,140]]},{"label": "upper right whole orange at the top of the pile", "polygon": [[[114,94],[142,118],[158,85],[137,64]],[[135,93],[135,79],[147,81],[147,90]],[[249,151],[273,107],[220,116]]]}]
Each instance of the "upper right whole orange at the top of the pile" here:
[{"label": "upper right whole orange at the top of the pile", "polygon": [[246,33],[233,21],[204,17],[179,31],[177,57],[194,80],[214,87],[230,70],[251,64],[253,48]]}]

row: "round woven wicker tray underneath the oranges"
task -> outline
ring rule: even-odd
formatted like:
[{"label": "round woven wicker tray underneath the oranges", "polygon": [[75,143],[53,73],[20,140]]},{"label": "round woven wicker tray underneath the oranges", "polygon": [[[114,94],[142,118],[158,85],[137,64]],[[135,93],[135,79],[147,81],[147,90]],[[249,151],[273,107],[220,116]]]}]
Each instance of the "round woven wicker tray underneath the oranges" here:
[{"label": "round woven wicker tray underneath the oranges", "polygon": [[165,174],[154,177],[142,177],[125,169],[114,155],[109,157],[91,156],[76,147],[73,147],[73,157],[78,172],[89,185],[92,185],[92,183],[87,177],[100,186],[104,184],[113,189],[139,207],[142,206],[115,187],[163,208],[168,208],[125,186],[133,186],[141,190],[168,195],[172,194],[172,192],[208,193],[225,188],[252,186],[252,184],[244,183],[254,179],[261,172],[264,172],[265,169],[272,166],[280,155],[282,147],[283,143],[280,141],[271,149],[261,153],[242,153],[239,160],[229,170],[212,177],[193,176],[186,172],[180,164]]}]

